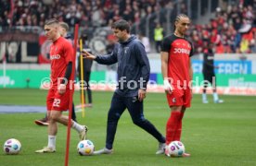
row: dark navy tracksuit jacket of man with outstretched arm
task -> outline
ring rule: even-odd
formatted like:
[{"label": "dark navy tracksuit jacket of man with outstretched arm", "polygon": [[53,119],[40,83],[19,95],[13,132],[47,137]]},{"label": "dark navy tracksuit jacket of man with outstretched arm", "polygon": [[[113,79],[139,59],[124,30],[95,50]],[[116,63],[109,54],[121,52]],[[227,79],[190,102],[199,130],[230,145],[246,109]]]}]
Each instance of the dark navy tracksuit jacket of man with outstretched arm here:
[{"label": "dark navy tracksuit jacket of man with outstretched arm", "polygon": [[[144,45],[134,36],[128,41],[115,44],[113,52],[96,56],[96,62],[102,65],[118,63],[118,87],[116,93],[122,97],[134,97],[138,89],[147,89],[150,66]],[[139,82],[139,80],[143,80]],[[132,89],[128,89],[130,86]]]}]

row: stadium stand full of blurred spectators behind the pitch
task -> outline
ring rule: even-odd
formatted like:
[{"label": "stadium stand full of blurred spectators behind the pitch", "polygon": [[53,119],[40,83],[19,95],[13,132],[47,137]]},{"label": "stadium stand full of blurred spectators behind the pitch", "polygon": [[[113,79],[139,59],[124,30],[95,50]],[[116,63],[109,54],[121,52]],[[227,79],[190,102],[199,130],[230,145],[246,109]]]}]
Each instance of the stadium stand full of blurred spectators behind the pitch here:
[{"label": "stadium stand full of blurred spectators behind the pitch", "polygon": [[[80,23],[83,30],[93,34],[96,28],[108,27],[124,18],[134,24],[134,33],[145,32],[153,43],[153,30],[158,22],[165,33],[169,33],[177,13],[190,15],[193,20],[205,15],[205,8],[210,4],[198,1],[201,7],[195,8],[191,6],[193,2],[197,3],[189,0],[3,0],[0,2],[0,32],[13,28],[40,31],[45,19],[58,18],[70,27]],[[214,8],[218,3],[226,6]],[[196,51],[200,53],[202,41],[210,39],[216,45],[216,53],[256,53],[255,0],[219,0],[218,3],[211,3],[211,16],[205,24],[192,25],[188,36],[194,41]]]}]

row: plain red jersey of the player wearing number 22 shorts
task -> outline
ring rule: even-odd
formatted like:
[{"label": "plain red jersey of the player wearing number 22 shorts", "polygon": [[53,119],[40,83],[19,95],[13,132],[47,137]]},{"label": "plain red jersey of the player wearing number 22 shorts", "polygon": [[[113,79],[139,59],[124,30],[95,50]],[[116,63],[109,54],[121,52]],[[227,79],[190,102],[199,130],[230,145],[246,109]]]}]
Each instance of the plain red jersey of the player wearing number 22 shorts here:
[{"label": "plain red jersey of the player wearing number 22 shorts", "polygon": [[[52,43],[50,48],[52,89],[58,89],[62,77],[65,77],[67,65],[69,62],[74,65],[74,57],[70,41],[59,37],[57,41]],[[68,81],[67,89],[70,89],[70,81]]]}]

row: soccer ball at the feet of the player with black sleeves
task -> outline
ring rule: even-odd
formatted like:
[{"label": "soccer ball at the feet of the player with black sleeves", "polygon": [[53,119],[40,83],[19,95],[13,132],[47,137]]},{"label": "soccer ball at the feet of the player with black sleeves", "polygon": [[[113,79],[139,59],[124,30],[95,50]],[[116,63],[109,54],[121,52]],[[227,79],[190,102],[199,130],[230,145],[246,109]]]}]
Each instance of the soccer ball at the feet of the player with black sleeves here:
[{"label": "soccer ball at the feet of the player with black sleeves", "polygon": [[185,147],[180,141],[173,141],[165,148],[168,157],[181,157],[185,153]]}]

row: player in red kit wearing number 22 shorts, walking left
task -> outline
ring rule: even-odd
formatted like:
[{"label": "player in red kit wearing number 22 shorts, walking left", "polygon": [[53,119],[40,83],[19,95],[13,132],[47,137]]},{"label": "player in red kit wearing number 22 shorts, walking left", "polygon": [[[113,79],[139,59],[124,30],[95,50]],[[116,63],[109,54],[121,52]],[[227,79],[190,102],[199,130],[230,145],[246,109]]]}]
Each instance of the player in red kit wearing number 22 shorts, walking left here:
[{"label": "player in red kit wearing number 22 shorts, walking left", "polygon": [[[72,45],[70,41],[60,36],[57,19],[53,18],[45,22],[45,35],[48,40],[53,41],[50,48],[52,84],[46,99],[47,117],[49,118],[48,145],[36,150],[37,153],[55,152],[58,123],[68,125],[69,117],[63,115],[62,112],[69,109],[72,89],[70,75],[72,65],[75,65]],[[79,133],[81,140],[85,139],[87,131],[85,125],[79,125],[71,120],[71,126]]]}]

